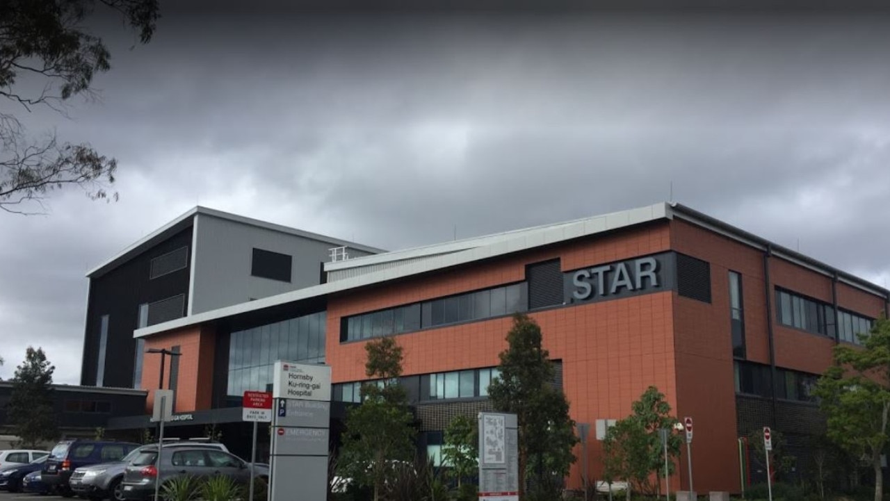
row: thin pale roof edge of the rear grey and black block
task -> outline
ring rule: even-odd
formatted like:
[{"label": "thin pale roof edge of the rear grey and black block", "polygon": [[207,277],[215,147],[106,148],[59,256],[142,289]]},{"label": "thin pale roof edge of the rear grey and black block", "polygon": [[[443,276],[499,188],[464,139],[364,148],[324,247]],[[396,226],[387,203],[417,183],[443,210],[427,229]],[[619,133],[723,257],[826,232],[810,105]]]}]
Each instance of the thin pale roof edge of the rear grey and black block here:
[{"label": "thin pale roof edge of the rear grey and black block", "polygon": [[250,217],[246,217],[238,214],[231,214],[227,212],[223,212],[220,210],[212,209],[205,206],[194,206],[190,208],[184,214],[174,218],[173,221],[167,222],[164,226],[158,228],[158,230],[152,231],[147,236],[136,240],[130,246],[126,246],[123,250],[118,252],[116,255],[112,255],[105,261],[99,263],[92,270],[86,272],[86,277],[88,278],[96,278],[101,277],[105,273],[108,273],[111,270],[117,268],[123,263],[126,263],[130,259],[133,259],[136,255],[142,254],[146,249],[150,246],[153,246],[166,238],[170,238],[174,236],[176,233],[179,233],[186,228],[189,228],[193,222],[192,218],[196,214],[204,214],[213,217],[217,217],[220,219],[224,219],[231,222],[240,222],[242,224],[247,224],[249,226],[255,226],[257,228],[263,228],[265,230],[279,231],[281,233],[287,233],[288,235],[295,235],[297,237],[310,238],[312,240],[318,240],[320,242],[326,242],[331,246],[337,247],[350,247],[356,250],[360,250],[363,252],[369,252],[373,254],[379,254],[386,252],[384,249],[378,249],[372,246],[365,246],[362,244],[358,244],[355,242],[350,242],[347,240],[343,240],[340,238],[328,237],[326,235],[320,235],[319,233],[312,233],[311,231],[297,230],[295,228],[291,228],[289,226],[284,226],[282,224],[276,224],[274,222],[265,222],[259,219],[253,219]]}]

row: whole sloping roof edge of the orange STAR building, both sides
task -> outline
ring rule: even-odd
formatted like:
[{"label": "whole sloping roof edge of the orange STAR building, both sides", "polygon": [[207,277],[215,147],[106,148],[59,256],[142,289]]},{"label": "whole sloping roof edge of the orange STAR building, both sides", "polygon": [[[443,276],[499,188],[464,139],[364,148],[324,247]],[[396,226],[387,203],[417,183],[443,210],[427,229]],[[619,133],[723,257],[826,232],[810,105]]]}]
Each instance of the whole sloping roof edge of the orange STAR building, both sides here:
[{"label": "whole sloping roof edge of the orange STAR building, both sides", "polygon": [[[868,280],[860,279],[850,273],[837,270],[828,264],[821,263],[811,257],[802,255],[788,247],[774,244],[765,238],[757,237],[753,233],[740,230],[731,224],[719,221],[707,214],[702,214],[691,207],[676,203],[662,202],[651,206],[638,207],[611,214],[596,215],[571,222],[560,222],[525,230],[507,231],[485,237],[468,238],[456,247],[452,247],[455,242],[449,242],[447,244],[441,244],[441,246],[438,247],[439,251],[436,251],[436,246],[424,246],[409,249],[409,251],[395,251],[387,253],[386,255],[356,258],[351,261],[363,261],[364,263],[368,263],[369,261],[374,260],[373,263],[383,263],[387,260],[386,257],[390,255],[401,255],[398,259],[391,260],[401,261],[403,259],[408,259],[409,256],[405,254],[406,252],[420,252],[422,253],[421,255],[429,256],[423,260],[410,260],[398,266],[385,268],[383,270],[369,271],[368,273],[360,274],[355,277],[339,279],[318,286],[305,287],[280,295],[272,295],[247,303],[234,304],[217,310],[205,311],[196,315],[182,317],[181,319],[170,320],[150,327],[143,327],[134,331],[134,337],[144,337],[166,332],[168,330],[189,327],[215,319],[223,319],[251,311],[263,310],[273,306],[295,303],[311,298],[325,297],[330,294],[353,288],[367,287],[394,279],[402,279],[430,271],[442,270],[460,264],[473,263],[500,255],[513,254],[538,246],[545,246],[606,231],[628,228],[645,222],[672,219],[691,222],[692,224],[715,231],[716,233],[724,235],[727,238],[732,238],[745,245],[753,246],[764,251],[769,250],[773,255],[781,257],[786,261],[796,263],[826,276],[837,276],[837,279],[846,285],[890,299],[890,290],[884,287],[879,287]],[[477,242],[477,244],[468,245],[469,242]],[[449,252],[449,250],[443,249],[452,250]]]}]

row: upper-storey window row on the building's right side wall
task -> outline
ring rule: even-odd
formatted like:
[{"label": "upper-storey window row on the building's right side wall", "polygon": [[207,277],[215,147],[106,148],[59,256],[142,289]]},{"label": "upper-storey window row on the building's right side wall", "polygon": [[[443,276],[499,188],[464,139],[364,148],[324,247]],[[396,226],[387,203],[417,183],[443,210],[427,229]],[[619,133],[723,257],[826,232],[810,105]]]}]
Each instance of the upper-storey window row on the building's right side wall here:
[{"label": "upper-storey window row on the building's right side wall", "polygon": [[834,306],[797,295],[784,290],[776,290],[776,315],[782,325],[796,327],[813,334],[837,336],[841,341],[859,343],[857,334],[867,334],[871,330],[871,319],[850,313],[837,312]]}]

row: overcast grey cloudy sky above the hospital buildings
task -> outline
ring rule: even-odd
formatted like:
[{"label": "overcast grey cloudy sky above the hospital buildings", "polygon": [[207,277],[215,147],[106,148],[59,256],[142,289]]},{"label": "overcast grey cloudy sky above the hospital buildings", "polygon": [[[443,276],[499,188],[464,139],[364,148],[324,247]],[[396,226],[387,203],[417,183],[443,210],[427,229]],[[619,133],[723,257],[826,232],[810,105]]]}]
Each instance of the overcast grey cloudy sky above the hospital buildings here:
[{"label": "overcast grey cloudy sky above the hospital buildings", "polygon": [[117,158],[120,200],[0,214],[4,379],[33,344],[77,383],[85,271],[196,204],[398,249],[666,201],[673,182],[890,278],[882,17],[166,11],[132,50],[105,28],[101,101],[27,119]]}]

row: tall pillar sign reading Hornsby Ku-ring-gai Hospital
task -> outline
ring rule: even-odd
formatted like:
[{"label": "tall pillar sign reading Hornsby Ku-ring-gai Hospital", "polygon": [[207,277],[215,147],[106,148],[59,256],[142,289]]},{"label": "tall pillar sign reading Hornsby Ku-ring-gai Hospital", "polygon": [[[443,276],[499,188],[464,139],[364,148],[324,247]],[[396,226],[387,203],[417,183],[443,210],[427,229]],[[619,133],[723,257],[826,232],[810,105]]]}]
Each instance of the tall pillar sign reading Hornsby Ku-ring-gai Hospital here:
[{"label": "tall pillar sign reading Hornsby Ku-ring-gai Hospital", "polygon": [[270,499],[325,501],[331,368],[279,360],[274,371]]}]

